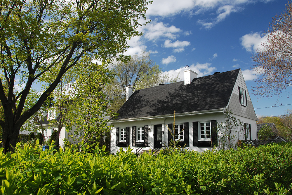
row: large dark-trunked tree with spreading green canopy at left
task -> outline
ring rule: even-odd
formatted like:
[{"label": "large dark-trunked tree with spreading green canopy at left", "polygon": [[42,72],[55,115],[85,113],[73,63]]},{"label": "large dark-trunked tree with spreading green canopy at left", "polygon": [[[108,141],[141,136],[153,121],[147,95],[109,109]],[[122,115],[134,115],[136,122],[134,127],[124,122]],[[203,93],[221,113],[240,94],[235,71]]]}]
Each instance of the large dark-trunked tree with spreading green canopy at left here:
[{"label": "large dark-trunked tree with spreading green canopy at left", "polygon": [[[146,0],[2,0],[0,3],[0,100],[4,152],[13,151],[20,127],[87,53],[110,60],[125,51],[126,40],[140,35]],[[36,103],[24,109],[35,83],[53,68],[57,74]],[[23,89],[15,92],[15,81]],[[4,91],[7,86],[7,92]]]}]

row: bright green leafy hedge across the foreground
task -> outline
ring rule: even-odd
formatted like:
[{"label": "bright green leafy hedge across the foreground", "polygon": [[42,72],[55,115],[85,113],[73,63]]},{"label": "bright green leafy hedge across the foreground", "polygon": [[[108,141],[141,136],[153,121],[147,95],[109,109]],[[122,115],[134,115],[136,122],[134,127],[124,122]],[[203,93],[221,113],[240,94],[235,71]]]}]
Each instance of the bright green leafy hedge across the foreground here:
[{"label": "bright green leafy hedge across the foreground", "polygon": [[13,154],[2,150],[3,194],[278,194],[292,187],[291,143],[139,157],[129,149],[116,155],[26,144]]}]

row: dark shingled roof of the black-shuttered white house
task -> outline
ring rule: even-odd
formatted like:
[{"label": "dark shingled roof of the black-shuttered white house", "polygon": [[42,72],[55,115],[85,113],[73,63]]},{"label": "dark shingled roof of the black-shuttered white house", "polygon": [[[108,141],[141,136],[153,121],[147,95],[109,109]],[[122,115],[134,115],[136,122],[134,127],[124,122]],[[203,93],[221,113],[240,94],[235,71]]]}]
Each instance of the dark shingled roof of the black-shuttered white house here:
[{"label": "dark shingled roof of the black-shuttered white house", "polygon": [[240,69],[135,91],[112,120],[225,108]]}]

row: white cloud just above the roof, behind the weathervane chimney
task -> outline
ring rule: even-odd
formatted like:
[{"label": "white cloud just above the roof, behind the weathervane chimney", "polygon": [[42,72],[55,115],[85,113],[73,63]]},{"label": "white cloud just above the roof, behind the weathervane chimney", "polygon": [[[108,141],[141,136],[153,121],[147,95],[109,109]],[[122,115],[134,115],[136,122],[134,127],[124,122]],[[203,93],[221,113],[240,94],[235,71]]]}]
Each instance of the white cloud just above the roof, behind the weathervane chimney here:
[{"label": "white cloud just above the roof, behind the weathervane chimney", "polygon": [[[198,77],[202,77],[202,76],[206,76],[206,75],[213,74],[213,72],[216,70],[215,67],[211,67],[211,63],[205,63],[205,64],[197,63],[197,64],[192,64],[189,67],[189,69],[192,70],[192,71],[195,71],[196,73],[198,73]],[[185,68],[185,66],[183,66],[183,67],[180,67],[180,68],[178,68],[176,70],[165,71],[164,74],[169,74],[170,77],[172,77],[172,76],[175,77],[179,73],[179,77],[180,77],[179,80],[184,80],[184,73],[183,73],[183,71],[185,71],[185,70],[186,70],[186,68]]]}]

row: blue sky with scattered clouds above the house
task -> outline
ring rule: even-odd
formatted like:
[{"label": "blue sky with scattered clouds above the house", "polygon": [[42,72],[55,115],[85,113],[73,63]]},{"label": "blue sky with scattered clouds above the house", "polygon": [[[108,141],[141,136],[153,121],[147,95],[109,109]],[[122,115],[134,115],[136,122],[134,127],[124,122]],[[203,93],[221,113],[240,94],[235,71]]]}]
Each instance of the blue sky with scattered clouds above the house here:
[{"label": "blue sky with scattered clouds above the house", "polygon": [[[283,115],[292,109],[287,94],[282,97],[255,96],[257,75],[251,71],[263,31],[272,17],[285,10],[286,0],[153,0],[148,6],[149,24],[140,28],[144,35],[128,41],[126,55],[149,51],[164,72],[183,76],[185,65],[210,75],[241,68],[258,117]],[[291,87],[289,89],[291,91]]]}]

